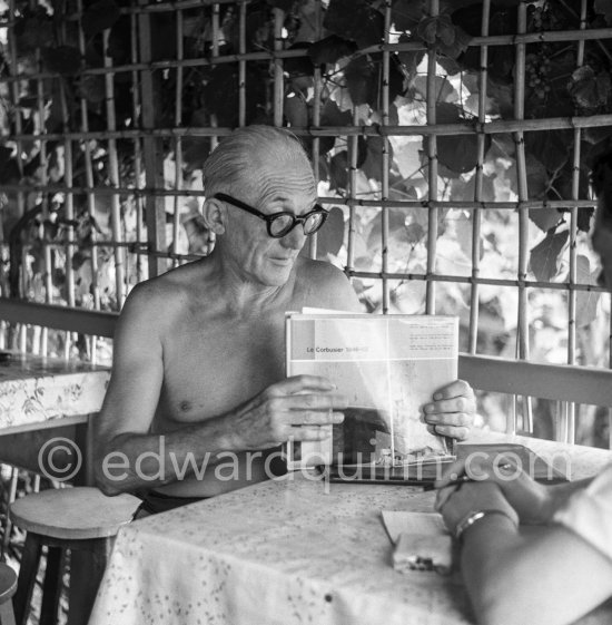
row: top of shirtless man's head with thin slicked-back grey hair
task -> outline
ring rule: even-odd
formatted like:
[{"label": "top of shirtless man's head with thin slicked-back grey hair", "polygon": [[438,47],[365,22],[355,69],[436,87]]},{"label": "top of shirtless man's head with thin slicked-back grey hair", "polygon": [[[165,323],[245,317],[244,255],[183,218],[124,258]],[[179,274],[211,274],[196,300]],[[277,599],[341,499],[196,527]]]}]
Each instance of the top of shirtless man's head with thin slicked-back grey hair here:
[{"label": "top of shirtless man's head with thin slicked-back grey hair", "polygon": [[303,169],[314,188],[310,162],[293,133],[273,126],[237,128],[204,164],[206,196],[223,192],[258,199],[264,191],[263,173],[287,167]]}]

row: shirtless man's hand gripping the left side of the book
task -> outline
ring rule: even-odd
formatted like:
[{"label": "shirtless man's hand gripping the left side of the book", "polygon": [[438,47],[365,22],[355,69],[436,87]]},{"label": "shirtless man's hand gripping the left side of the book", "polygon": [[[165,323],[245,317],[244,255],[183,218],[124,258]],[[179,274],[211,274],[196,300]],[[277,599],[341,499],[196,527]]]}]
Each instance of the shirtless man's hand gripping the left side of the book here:
[{"label": "shirtless man's hand gripping the left side of the book", "polygon": [[269,385],[231,416],[238,449],[268,449],[288,441],[328,438],[330,426],[342,423],[347,399],[335,384],[318,375],[294,375]]}]

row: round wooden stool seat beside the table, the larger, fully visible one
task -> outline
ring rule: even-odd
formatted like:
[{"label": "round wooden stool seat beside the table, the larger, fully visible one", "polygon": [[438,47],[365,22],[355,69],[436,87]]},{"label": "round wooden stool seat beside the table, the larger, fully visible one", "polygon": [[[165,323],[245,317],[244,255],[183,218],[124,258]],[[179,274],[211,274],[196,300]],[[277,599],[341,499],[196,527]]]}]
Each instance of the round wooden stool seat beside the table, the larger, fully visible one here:
[{"label": "round wooden stool seat beside the table, the larger, fully visible one", "polygon": [[51,538],[86,540],[115,536],[128,524],[140,499],[132,495],[107,497],[92,487],[49,489],[18,499],[10,507],[21,529]]}]

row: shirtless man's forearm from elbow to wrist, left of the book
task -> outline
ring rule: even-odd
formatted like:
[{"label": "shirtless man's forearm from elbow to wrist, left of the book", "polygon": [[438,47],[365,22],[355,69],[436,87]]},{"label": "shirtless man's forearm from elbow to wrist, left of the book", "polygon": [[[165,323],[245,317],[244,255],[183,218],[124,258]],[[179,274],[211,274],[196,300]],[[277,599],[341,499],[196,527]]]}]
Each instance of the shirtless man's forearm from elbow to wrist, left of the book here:
[{"label": "shirtless man's forearm from elbow to wrist, left of the book", "polygon": [[120,433],[96,455],[96,482],[107,495],[151,488],[204,475],[220,452],[240,451],[226,417],[168,433]]}]

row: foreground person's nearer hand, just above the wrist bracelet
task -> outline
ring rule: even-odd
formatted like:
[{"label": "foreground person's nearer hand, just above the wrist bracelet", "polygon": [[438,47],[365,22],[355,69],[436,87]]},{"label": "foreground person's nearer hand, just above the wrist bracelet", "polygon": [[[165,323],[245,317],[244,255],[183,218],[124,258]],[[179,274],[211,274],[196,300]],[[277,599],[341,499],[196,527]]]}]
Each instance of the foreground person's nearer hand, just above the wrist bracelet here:
[{"label": "foreground person's nearer hand, just above the wrist bracelet", "polygon": [[444,525],[453,535],[457,524],[470,512],[480,510],[500,510],[519,525],[516,512],[504,498],[500,487],[492,481],[465,482],[461,487],[447,486],[438,490],[435,509],[442,514]]}]

